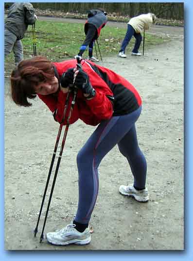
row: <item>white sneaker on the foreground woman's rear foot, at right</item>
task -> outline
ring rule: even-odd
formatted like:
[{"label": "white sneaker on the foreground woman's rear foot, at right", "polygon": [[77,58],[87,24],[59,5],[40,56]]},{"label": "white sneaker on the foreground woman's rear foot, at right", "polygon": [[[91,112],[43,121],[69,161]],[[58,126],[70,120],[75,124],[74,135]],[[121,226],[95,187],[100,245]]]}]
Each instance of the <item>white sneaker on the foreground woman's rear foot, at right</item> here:
[{"label": "white sneaker on the foreground woman's rear foot, at right", "polygon": [[133,185],[124,186],[121,185],[119,192],[124,196],[134,197],[137,201],[147,202],[149,200],[148,190],[136,190]]}]

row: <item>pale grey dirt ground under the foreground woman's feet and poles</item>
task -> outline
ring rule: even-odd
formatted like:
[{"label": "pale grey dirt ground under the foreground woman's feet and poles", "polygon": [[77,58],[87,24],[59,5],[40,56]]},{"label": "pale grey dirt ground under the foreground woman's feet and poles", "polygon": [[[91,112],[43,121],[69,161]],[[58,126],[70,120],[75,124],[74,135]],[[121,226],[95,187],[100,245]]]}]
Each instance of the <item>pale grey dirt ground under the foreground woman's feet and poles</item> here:
[{"label": "pale grey dirt ground under the foreground woman's feet and poles", "polygon": [[[150,200],[139,203],[119,194],[119,186],[133,179],[126,160],[114,147],[99,168],[99,195],[90,221],[93,233],[88,245],[59,247],[47,244],[46,239],[40,244],[45,209],[34,237],[59,125],[38,99],[32,108],[16,106],[5,79],[5,249],[184,249],[183,28],[154,26],[151,32],[166,34],[171,42],[145,50],[143,57],[128,54],[126,59],[104,57],[100,62],[131,82],[142,97],[137,131],[148,164]],[[95,127],[80,120],[70,126],[45,233],[67,225],[76,212],[76,154],[93,130]]]}]

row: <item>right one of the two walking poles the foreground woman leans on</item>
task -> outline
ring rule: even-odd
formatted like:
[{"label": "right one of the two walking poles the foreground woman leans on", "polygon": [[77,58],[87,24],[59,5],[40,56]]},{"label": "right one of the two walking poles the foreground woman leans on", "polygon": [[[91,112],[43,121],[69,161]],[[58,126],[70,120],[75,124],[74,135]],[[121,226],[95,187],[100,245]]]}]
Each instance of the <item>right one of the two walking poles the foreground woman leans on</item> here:
[{"label": "right one of the two walking poles the foreground woman leans on", "polygon": [[[80,59],[77,58],[77,69],[80,69],[80,68],[81,68]],[[40,243],[42,242],[42,240],[44,238],[44,228],[45,228],[45,225],[46,225],[46,220],[47,220],[47,216],[48,216],[48,212],[49,212],[49,208],[50,208],[50,203],[51,203],[52,196],[53,196],[53,189],[54,189],[55,181],[56,181],[56,178],[57,178],[57,173],[58,173],[58,169],[59,169],[59,166],[60,166],[60,161],[61,161],[61,158],[62,158],[62,152],[63,152],[64,145],[65,145],[65,142],[66,142],[67,133],[68,133],[68,130],[69,130],[70,116],[71,116],[71,113],[73,112],[77,92],[78,92],[78,90],[74,86],[73,98],[72,98],[72,101],[71,101],[70,111],[69,111],[69,115],[67,117],[67,125],[66,125],[65,131],[64,131],[62,145],[61,145],[61,149],[60,149],[60,153],[59,153],[59,157],[58,157],[58,161],[57,161],[57,165],[56,165],[56,169],[55,169],[55,174],[54,174],[54,177],[53,177],[53,184],[52,184],[51,193],[50,193],[47,211],[46,211],[46,216],[45,216],[45,219],[44,219],[44,224],[43,224],[43,228],[42,228],[42,232],[41,232],[41,236],[40,236]]]}]

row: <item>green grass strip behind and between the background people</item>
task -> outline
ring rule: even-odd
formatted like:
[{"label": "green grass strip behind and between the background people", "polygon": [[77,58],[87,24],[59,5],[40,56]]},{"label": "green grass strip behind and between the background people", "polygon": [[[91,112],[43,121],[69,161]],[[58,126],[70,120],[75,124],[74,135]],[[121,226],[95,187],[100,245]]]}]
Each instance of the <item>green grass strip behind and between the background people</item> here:
[{"label": "green grass strip behind and between the background people", "polygon": [[[123,38],[126,33],[126,27],[105,26],[102,29],[98,43],[102,57],[117,55]],[[46,56],[48,59],[59,62],[65,59],[71,59],[79,51],[85,39],[84,25],[79,23],[64,23],[54,21],[37,20],[35,24],[36,50],[37,55]],[[158,37],[152,34],[145,34],[145,49],[152,45],[162,44],[168,39]],[[131,39],[126,52],[129,53],[134,46],[135,39]],[[28,27],[22,39],[24,59],[32,57],[33,52],[33,34],[32,26]],[[142,43],[140,50],[142,49]],[[97,49],[98,50],[98,49]],[[95,49],[93,51],[95,55]],[[98,52],[99,56],[99,52]],[[84,52],[84,57],[88,57],[88,50]],[[5,74],[10,75],[14,68],[13,52],[5,59]]]}]

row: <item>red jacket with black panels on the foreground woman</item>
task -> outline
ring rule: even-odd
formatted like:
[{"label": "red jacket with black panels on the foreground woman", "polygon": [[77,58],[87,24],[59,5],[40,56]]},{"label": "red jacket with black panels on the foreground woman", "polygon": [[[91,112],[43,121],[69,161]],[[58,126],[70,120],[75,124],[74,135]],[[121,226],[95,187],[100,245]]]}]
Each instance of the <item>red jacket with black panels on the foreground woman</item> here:
[{"label": "red jacket with black panels on the foreground woman", "polygon": [[[53,63],[53,65],[55,66],[59,77],[61,77],[63,72],[66,72],[70,68],[76,67],[76,60],[73,59],[60,63]],[[82,65],[82,69],[88,74],[90,83],[96,91],[96,95],[91,100],[87,100],[83,96],[82,91],[78,90],[73,113],[71,114],[70,117],[70,124],[74,123],[78,119],[81,119],[86,124],[95,126],[98,125],[102,120],[109,119],[113,115],[114,108],[111,99],[109,99],[109,97],[110,98],[114,97],[113,91],[110,89],[111,86],[109,86],[111,85],[110,84],[111,81],[114,84],[113,86],[116,85],[116,82],[122,82],[124,85],[127,85],[126,87],[124,86],[124,89],[126,88],[127,91],[129,91],[129,93],[132,93],[132,97],[135,97],[135,104],[137,105],[137,108],[141,105],[141,99],[139,94],[137,93],[135,88],[129,82],[127,82],[123,77],[117,75],[116,73],[114,73],[113,71],[105,67],[96,65],[90,61],[88,62],[87,60],[82,60],[81,65]],[[97,70],[95,71],[95,67],[99,69],[101,72],[108,75],[110,79],[110,82],[108,79],[107,82],[108,85],[105,82],[105,80],[102,79],[99,72]],[[132,92],[130,89],[132,90]],[[38,95],[38,96],[43,102],[46,103],[46,105],[50,108],[52,112],[56,112],[57,110],[54,118],[58,122],[61,122],[67,94],[64,94],[62,91],[59,91],[57,94]],[[131,98],[129,98],[129,100],[131,100]],[[121,108],[119,106],[119,103],[120,102],[117,103],[117,106]],[[129,108],[134,110],[133,105],[132,107],[130,106]],[[126,111],[126,114],[127,113],[129,112]],[[123,112],[121,114],[125,114],[125,113]],[[66,124],[66,121],[64,122],[64,124]]]}]

